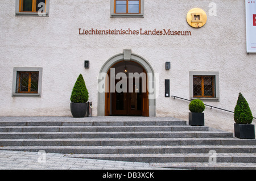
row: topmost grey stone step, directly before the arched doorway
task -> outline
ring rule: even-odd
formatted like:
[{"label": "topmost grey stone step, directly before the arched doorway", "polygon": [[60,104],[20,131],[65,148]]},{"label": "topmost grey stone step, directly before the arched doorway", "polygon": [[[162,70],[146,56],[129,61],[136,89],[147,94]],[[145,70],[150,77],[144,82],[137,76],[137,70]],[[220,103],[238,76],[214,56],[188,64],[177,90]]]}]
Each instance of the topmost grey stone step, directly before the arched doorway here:
[{"label": "topmost grey stone step, directly before the arched doorway", "polygon": [[[73,117],[46,117],[42,120],[41,117],[25,117],[24,120],[7,118],[10,120],[0,120],[0,127],[8,126],[129,126],[129,125],[187,125],[187,121],[170,118],[170,120],[152,119],[138,119],[133,117],[123,120],[123,117],[86,117],[86,119],[79,119]],[[32,120],[31,120],[32,119]]]}]

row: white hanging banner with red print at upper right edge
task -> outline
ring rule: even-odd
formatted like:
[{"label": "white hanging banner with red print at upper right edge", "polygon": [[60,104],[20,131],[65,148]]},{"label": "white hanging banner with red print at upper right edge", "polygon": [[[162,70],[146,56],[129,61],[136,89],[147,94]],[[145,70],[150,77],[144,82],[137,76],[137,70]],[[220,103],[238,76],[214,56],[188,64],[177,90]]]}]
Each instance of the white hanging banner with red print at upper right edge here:
[{"label": "white hanging banner with red print at upper right edge", "polygon": [[256,0],[245,0],[247,53],[256,53]]}]

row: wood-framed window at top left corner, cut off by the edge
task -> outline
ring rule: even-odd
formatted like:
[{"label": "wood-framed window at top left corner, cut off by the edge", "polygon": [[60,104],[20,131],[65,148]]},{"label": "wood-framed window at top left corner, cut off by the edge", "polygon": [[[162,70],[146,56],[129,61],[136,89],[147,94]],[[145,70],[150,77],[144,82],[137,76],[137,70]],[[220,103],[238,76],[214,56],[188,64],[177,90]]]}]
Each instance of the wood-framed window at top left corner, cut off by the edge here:
[{"label": "wood-framed window at top left corner, cut off by the edge", "polygon": [[16,0],[16,16],[48,16],[49,0]]}]

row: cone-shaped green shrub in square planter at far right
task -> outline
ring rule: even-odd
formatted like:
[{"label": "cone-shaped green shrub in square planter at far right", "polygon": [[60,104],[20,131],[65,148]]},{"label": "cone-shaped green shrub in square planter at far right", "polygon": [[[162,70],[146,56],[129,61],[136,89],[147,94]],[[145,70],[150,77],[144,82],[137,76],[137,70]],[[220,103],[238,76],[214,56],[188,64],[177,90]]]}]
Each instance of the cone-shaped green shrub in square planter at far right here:
[{"label": "cone-shaped green shrub in square planter at far right", "polygon": [[234,110],[234,121],[237,124],[251,124],[251,121],[253,121],[253,114],[251,113],[249,104],[241,92],[239,93],[237,105]]}]

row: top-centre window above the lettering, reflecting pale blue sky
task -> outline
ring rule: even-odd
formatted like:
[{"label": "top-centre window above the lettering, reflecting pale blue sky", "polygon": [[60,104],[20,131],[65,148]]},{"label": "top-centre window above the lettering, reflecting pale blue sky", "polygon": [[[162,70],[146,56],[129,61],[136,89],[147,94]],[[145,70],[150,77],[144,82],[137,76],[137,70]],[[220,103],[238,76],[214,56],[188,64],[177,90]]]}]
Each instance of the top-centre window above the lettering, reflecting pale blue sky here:
[{"label": "top-centre window above the lettering, reflecting pale blue sky", "polygon": [[143,18],[144,0],[111,0],[111,17]]}]

